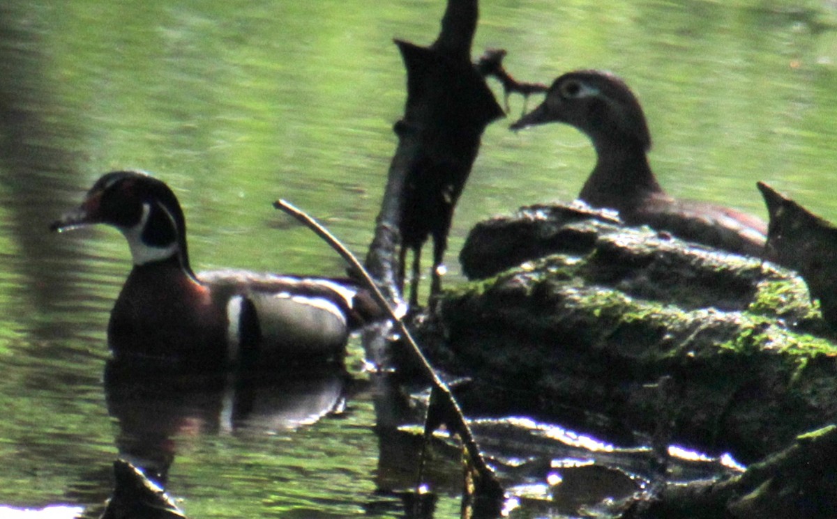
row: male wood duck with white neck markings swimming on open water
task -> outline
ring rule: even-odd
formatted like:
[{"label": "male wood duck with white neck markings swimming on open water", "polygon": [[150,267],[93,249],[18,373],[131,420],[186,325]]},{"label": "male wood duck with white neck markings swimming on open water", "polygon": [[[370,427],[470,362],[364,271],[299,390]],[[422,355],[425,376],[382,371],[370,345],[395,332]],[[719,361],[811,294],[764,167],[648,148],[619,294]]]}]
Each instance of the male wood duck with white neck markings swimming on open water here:
[{"label": "male wood duck with white neck markings swimming on open water", "polygon": [[102,176],[52,229],[96,223],[122,232],[134,262],[108,323],[117,360],[203,368],[341,358],[352,329],[377,316],[369,294],[349,280],[244,271],[198,277],[177,197],[145,173]]}]

